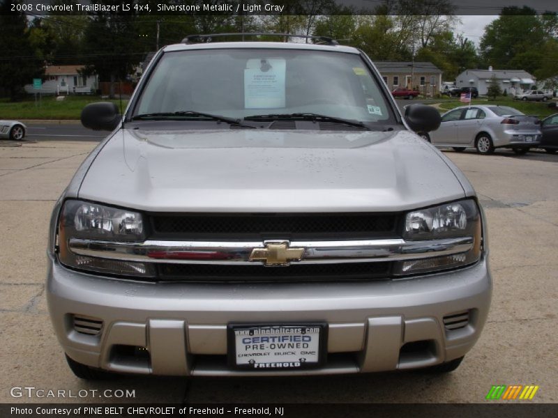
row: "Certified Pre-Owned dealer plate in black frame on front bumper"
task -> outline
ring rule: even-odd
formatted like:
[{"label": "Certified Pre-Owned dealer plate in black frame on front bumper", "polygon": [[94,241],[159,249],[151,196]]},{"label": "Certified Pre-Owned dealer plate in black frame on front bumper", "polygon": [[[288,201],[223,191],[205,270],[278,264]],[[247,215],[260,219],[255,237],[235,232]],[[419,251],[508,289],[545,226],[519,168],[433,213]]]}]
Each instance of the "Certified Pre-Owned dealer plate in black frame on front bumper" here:
[{"label": "Certified Pre-Owned dealer plate in black frame on front bumper", "polygon": [[324,324],[229,325],[229,364],[240,369],[304,369],[322,364]]}]

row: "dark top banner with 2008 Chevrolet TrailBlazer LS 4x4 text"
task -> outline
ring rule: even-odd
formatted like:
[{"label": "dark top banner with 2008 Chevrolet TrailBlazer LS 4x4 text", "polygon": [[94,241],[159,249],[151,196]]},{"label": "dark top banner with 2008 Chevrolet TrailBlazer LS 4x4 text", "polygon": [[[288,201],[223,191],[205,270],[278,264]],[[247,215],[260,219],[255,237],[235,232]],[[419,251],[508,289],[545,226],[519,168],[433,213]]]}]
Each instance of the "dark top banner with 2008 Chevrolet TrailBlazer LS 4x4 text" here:
[{"label": "dark top banner with 2008 Chevrolet TrailBlazer LS 4x4 text", "polygon": [[[29,15],[499,15],[524,6],[558,13],[555,0],[0,0],[1,13]],[[529,13],[526,13],[529,14]]]}]

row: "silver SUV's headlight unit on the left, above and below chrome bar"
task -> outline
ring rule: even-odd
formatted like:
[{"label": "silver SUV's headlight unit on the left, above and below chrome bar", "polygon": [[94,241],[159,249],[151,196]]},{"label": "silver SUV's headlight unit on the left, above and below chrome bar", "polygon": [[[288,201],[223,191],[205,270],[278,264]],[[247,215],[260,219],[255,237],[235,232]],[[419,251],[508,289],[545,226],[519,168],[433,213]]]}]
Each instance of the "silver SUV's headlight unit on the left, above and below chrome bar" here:
[{"label": "silver SUV's headlight unit on the left, above and below chrome bar", "polygon": [[84,201],[64,203],[59,222],[59,260],[80,270],[125,276],[153,277],[149,263],[115,261],[74,254],[68,248],[72,238],[100,241],[142,242],[145,240],[142,214]]}]

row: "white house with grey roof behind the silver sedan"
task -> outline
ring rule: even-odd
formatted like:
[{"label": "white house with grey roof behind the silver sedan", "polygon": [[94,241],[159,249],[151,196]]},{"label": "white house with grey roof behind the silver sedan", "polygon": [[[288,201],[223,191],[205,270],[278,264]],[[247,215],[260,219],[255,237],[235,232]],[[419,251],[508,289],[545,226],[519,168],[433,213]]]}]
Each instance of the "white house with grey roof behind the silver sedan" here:
[{"label": "white house with grey roof behind the silver sedan", "polygon": [[465,70],[456,79],[456,86],[476,87],[478,94],[485,95],[488,93],[488,86],[492,77],[495,77],[502,91],[508,94],[521,93],[530,90],[531,86],[536,83],[535,77],[524,70]]}]

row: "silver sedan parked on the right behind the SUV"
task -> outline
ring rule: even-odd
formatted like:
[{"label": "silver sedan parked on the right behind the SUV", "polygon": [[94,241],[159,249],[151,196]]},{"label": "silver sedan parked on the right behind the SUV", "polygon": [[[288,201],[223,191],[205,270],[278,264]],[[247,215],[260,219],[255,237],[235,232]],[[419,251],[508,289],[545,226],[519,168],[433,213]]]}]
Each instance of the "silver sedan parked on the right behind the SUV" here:
[{"label": "silver sedan parked on the right behind the SUV", "polygon": [[476,148],[490,154],[495,148],[511,148],[525,154],[541,141],[541,122],[507,106],[462,106],[446,112],[440,127],[421,134],[435,146],[456,151]]}]

